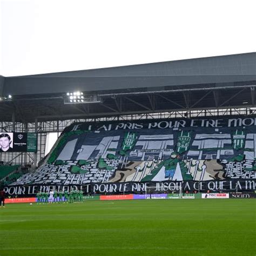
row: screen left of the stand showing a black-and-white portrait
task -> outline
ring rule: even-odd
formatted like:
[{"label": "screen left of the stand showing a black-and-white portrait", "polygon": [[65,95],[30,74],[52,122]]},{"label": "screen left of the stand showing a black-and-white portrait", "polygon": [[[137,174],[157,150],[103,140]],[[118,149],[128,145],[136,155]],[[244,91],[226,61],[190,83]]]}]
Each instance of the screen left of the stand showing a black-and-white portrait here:
[{"label": "screen left of the stand showing a black-and-white portrait", "polygon": [[0,132],[0,152],[37,152],[37,133]]}]

